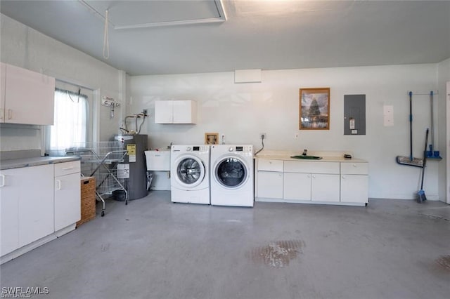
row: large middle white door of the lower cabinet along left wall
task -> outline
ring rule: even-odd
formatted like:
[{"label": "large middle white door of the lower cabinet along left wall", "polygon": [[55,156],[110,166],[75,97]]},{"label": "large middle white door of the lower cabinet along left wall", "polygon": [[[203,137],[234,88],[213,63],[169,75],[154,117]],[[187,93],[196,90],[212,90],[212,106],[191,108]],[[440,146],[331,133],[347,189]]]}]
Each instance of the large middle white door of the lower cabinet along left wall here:
[{"label": "large middle white door of the lower cabinet along left wall", "polygon": [[20,173],[19,247],[53,233],[53,164]]}]

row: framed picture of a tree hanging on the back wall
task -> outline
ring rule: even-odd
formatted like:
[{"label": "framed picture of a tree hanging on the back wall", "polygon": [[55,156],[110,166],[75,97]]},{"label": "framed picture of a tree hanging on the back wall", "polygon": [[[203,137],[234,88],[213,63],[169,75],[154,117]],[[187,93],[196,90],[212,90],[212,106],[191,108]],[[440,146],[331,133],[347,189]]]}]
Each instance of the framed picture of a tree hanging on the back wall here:
[{"label": "framed picture of a tree hanging on the back wall", "polygon": [[330,88],[300,88],[300,130],[330,129]]}]

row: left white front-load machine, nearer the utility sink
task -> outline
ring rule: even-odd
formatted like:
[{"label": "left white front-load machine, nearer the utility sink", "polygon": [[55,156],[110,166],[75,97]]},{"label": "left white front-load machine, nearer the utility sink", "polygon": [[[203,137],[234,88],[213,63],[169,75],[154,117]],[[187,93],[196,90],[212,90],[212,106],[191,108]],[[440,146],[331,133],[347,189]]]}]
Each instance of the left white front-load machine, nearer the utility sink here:
[{"label": "left white front-load machine, nearer the utility sink", "polygon": [[170,185],[173,202],[210,204],[210,146],[172,145]]}]

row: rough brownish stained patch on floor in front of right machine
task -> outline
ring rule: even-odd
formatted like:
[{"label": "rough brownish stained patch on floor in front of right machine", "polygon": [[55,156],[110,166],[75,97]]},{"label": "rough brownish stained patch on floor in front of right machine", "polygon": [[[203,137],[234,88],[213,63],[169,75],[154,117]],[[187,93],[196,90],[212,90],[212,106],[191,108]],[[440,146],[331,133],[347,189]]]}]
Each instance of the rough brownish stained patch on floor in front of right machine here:
[{"label": "rough brownish stained patch on floor in front of right machine", "polygon": [[253,263],[282,268],[302,254],[304,246],[304,241],[301,240],[272,241],[266,246],[253,249],[248,253],[248,257]]}]

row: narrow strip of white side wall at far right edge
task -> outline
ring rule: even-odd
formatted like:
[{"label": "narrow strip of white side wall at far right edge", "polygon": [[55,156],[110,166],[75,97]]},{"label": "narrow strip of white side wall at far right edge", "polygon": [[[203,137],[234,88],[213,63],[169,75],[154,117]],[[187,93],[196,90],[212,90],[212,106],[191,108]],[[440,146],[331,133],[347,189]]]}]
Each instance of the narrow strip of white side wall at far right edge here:
[{"label": "narrow strip of white side wall at far right edge", "polygon": [[[439,88],[439,103],[438,103],[438,121],[439,121],[439,140],[450,141],[450,96],[447,95],[449,90],[446,89],[447,82],[450,81],[450,58],[439,62],[438,68],[438,88]],[[439,178],[446,178],[446,180],[439,180],[439,200],[446,201],[450,204],[450,143],[442,142],[438,148],[443,158],[439,163]]]}]

